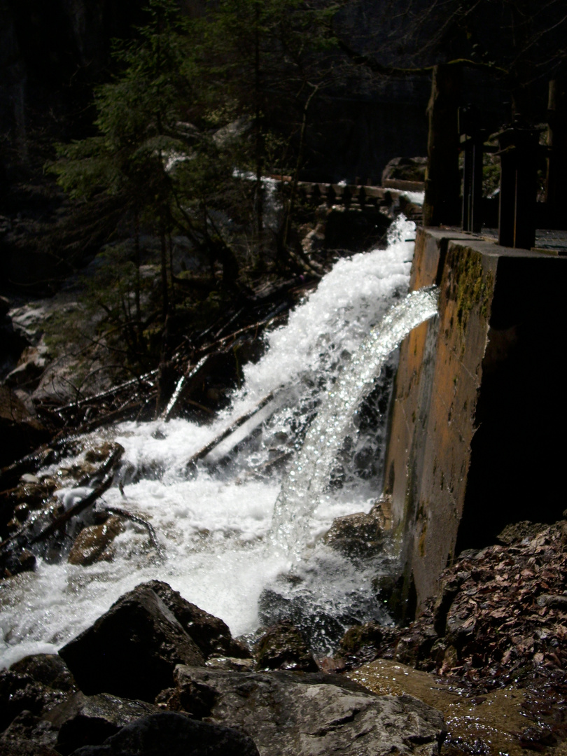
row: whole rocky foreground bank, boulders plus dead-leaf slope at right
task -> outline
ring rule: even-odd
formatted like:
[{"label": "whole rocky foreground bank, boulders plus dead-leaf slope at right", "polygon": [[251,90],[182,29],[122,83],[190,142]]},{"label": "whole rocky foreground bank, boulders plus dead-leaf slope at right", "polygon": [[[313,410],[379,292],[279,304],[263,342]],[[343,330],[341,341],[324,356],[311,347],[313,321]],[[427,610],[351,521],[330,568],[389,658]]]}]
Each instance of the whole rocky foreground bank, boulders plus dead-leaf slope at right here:
[{"label": "whole rocky foreground bank, boulders plus dead-leaf slope at right", "polygon": [[[370,519],[342,518],[329,540],[344,549],[337,536]],[[333,658],[290,621],[238,640],[169,585],[141,584],[58,655],[0,674],[2,752],[559,756],[567,521],[500,541],[463,553],[416,621],[352,627]]]}]

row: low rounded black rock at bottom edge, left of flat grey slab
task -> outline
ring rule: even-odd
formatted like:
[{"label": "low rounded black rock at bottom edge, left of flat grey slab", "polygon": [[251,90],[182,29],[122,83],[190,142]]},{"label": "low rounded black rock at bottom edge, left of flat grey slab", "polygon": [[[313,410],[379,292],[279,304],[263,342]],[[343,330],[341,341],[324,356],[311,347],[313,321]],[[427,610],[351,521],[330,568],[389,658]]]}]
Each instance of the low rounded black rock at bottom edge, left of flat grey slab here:
[{"label": "low rounded black rock at bottom edge, left of flat grey slab", "polygon": [[259,756],[249,736],[166,711],[123,727],[103,745],[88,745],[73,756]]}]

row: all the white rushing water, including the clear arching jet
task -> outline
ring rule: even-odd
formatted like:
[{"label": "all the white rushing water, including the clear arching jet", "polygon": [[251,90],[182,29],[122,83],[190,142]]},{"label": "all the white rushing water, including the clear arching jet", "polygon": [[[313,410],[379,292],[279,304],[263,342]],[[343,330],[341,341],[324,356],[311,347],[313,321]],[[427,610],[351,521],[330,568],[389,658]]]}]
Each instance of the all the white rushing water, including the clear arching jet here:
[{"label": "all the white rushing water, including the clear arching jet", "polygon": [[[235,636],[291,612],[320,654],[355,621],[388,621],[372,578],[392,569],[395,556],[355,563],[321,536],[334,518],[368,511],[380,495],[395,348],[436,311],[431,291],[406,296],[413,237],[414,224],[398,218],[387,249],[339,260],[267,336],[265,357],[246,367],[243,389],[214,423],[122,423],[86,439],[85,450],[104,440],[125,449],[123,494],[110,488],[97,508],[151,522],[163,556],[143,527],[126,522],[111,562],[39,559],[35,572],[0,582],[0,667],[56,651],[154,578],[223,618]],[[196,451],[271,392],[187,472]],[[84,454],[38,475],[60,476]],[[58,492],[66,507],[76,495]]]}]

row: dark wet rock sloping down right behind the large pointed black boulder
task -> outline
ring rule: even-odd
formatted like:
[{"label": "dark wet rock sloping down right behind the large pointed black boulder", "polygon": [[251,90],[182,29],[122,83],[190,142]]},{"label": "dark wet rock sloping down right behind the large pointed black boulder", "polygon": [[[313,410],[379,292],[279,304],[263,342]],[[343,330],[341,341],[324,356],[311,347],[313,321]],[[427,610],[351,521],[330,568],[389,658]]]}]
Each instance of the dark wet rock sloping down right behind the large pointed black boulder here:
[{"label": "dark wet rock sloping down right behind the large pointed black boulder", "polygon": [[187,635],[197,643],[205,658],[218,655],[250,658],[249,650],[232,637],[228,625],[222,619],[184,600],[181,593],[173,590],[167,583],[153,580],[146,585],[160,596]]}]

